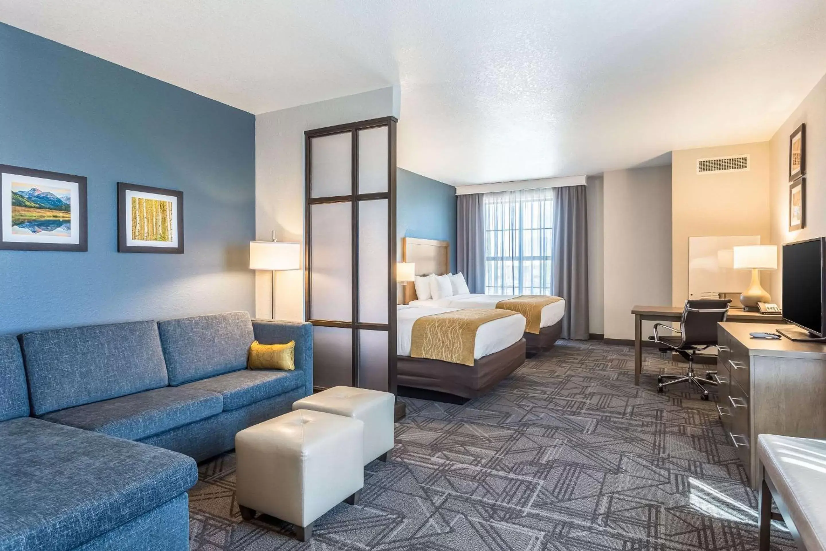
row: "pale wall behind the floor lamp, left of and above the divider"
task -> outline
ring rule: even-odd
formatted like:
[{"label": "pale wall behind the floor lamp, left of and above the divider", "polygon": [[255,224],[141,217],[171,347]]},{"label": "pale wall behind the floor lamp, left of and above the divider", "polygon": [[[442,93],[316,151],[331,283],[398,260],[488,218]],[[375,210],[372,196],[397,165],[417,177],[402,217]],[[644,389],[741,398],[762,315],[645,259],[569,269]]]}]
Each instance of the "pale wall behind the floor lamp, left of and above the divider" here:
[{"label": "pale wall behind the floor lamp, left of and above the divider", "polygon": [[[380,116],[399,115],[394,88],[310,103],[255,117],[255,234],[269,240],[304,240],[304,131]],[[278,272],[276,317],[304,319],[303,272]],[[272,310],[273,276],[255,274],[255,315]]]}]

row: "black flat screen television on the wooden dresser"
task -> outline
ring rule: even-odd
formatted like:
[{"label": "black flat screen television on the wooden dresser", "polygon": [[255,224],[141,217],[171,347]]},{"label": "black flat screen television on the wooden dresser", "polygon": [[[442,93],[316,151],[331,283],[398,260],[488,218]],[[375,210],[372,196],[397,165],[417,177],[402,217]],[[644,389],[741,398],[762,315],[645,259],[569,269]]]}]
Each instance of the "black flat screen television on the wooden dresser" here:
[{"label": "black flat screen television on the wooden dresser", "polygon": [[783,245],[783,319],[800,330],[781,330],[791,340],[822,339],[824,328],[826,238]]}]

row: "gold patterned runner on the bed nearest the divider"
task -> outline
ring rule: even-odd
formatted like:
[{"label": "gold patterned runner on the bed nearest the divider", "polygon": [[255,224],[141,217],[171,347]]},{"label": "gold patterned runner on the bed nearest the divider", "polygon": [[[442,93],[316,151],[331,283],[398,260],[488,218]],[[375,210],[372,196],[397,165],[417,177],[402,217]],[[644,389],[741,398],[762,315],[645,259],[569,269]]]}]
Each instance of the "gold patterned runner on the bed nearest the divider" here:
[{"label": "gold patterned runner on the bed nearest the divider", "polygon": [[479,327],[515,313],[493,308],[467,308],[422,316],[413,322],[411,357],[473,365]]}]

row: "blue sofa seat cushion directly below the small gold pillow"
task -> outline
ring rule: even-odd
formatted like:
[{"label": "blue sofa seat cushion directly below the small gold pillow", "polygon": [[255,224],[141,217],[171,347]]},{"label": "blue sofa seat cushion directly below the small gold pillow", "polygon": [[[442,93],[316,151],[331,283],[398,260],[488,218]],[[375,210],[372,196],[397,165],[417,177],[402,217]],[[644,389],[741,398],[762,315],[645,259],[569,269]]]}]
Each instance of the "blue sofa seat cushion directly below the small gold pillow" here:
[{"label": "blue sofa seat cushion directly below the small gold pillow", "polygon": [[219,392],[224,397],[224,411],[230,411],[303,386],[304,373],[300,371],[243,369],[190,382],[181,388]]}]

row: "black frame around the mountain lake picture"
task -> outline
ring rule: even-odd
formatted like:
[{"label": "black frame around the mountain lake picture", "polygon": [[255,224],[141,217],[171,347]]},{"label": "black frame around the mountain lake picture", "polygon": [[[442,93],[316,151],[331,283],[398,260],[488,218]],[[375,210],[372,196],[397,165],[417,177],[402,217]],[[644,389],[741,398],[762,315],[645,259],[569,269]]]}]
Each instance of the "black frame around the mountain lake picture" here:
[{"label": "black frame around the mountain lake picture", "polygon": [[[0,192],[0,250],[52,250],[74,253],[85,253],[88,251],[88,203],[86,196],[87,181],[85,176],[50,172],[49,170],[26,169],[24,167],[12,166],[11,164],[0,164],[0,181],[2,181],[3,174],[17,174],[19,176],[28,176],[30,178],[44,178],[48,180],[55,180],[57,182],[78,184],[78,243],[27,243],[21,241],[7,241],[7,235],[4,230],[6,227],[6,220],[3,218],[3,212],[5,212],[4,201],[6,199],[3,197],[5,192]],[[7,201],[11,201],[11,197],[9,197]]]}]

